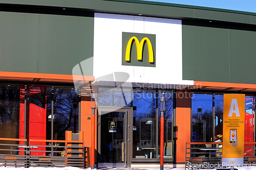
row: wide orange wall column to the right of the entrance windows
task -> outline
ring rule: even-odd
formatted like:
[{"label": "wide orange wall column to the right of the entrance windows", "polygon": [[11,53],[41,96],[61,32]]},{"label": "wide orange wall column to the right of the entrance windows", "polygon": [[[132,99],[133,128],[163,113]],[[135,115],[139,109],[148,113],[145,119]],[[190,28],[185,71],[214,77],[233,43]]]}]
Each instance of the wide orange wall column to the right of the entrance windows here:
[{"label": "wide orange wall column to the right of the entrance windows", "polygon": [[190,91],[176,93],[176,162],[185,162],[186,142],[190,142],[191,131],[191,98]]}]

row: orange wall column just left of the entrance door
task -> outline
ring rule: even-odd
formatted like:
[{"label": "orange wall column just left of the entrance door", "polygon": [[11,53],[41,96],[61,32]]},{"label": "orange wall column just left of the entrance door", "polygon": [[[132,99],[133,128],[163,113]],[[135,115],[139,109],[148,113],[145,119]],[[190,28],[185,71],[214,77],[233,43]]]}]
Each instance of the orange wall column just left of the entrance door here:
[{"label": "orange wall column just left of the entrance door", "polygon": [[[91,97],[81,96],[81,131],[83,132],[84,147],[92,147],[91,137],[92,137],[92,109],[91,109]],[[97,150],[97,110],[95,109],[95,142],[94,150]],[[86,159],[87,166],[90,167],[90,156],[93,150],[90,150],[89,158]],[[95,161],[96,160],[95,154]]]}]

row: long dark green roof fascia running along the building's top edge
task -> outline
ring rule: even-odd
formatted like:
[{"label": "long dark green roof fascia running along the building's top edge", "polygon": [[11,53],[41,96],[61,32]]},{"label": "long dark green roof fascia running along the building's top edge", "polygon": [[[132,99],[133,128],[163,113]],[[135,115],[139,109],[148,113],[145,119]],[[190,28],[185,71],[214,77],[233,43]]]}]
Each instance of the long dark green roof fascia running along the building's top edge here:
[{"label": "long dark green roof fascia running along the building's top edge", "polygon": [[0,0],[0,4],[23,5],[39,8],[52,8],[62,10],[79,10],[99,13],[129,14],[150,17],[167,17],[174,19],[206,19],[237,23],[255,24],[251,17],[252,12],[234,11],[227,9],[179,5],[170,3],[138,1],[138,0]]}]

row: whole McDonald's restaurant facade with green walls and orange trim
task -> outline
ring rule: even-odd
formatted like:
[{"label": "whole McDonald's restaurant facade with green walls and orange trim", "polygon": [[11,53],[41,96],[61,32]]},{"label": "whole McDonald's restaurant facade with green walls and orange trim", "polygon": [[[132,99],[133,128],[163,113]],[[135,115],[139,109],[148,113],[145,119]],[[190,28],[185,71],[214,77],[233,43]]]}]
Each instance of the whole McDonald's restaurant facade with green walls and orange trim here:
[{"label": "whole McDonald's restaurant facade with green walls and orange trim", "polygon": [[159,164],[164,96],[164,163],[184,164],[186,142],[222,142],[231,93],[245,94],[245,141],[255,141],[255,13],[137,0],[0,4],[0,138],[82,132],[91,148],[96,94],[95,164]]}]

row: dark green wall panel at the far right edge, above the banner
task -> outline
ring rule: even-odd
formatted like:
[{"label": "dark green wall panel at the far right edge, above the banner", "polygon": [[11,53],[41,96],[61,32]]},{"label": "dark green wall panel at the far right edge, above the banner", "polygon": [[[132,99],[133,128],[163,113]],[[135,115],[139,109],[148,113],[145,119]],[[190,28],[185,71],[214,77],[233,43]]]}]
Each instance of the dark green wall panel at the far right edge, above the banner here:
[{"label": "dark green wall panel at the far right edge, above the banner", "polygon": [[229,30],[230,83],[256,84],[256,32]]}]

